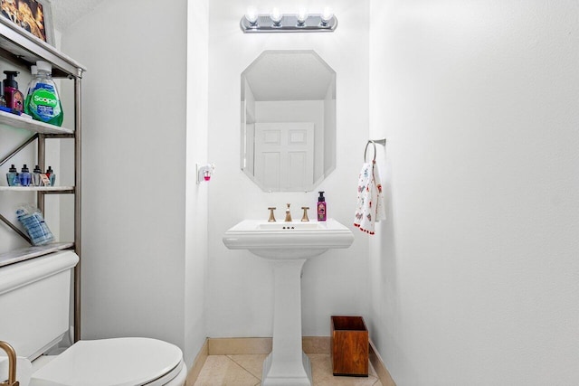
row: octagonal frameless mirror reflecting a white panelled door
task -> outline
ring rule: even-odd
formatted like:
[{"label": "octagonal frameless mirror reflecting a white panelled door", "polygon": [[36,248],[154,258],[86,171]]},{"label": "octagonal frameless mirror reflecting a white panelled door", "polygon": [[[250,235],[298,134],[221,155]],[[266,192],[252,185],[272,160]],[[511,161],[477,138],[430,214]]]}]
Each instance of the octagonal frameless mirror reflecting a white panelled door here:
[{"label": "octagonal frameless mirror reflecting a white panelled door", "polygon": [[336,167],[336,71],[265,51],[242,72],[241,167],[266,192],[309,192]]}]

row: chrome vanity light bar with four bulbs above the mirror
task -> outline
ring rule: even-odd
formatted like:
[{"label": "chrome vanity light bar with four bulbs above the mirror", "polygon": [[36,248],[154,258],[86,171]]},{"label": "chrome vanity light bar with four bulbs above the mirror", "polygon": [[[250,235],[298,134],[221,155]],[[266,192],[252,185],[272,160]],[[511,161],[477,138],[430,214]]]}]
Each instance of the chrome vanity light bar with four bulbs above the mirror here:
[{"label": "chrome vanity light bar with four bulbs above the mirror", "polygon": [[297,14],[282,14],[278,7],[269,14],[259,14],[251,7],[240,26],[244,33],[331,33],[336,30],[337,18],[329,7],[322,14],[308,14],[305,9]]}]

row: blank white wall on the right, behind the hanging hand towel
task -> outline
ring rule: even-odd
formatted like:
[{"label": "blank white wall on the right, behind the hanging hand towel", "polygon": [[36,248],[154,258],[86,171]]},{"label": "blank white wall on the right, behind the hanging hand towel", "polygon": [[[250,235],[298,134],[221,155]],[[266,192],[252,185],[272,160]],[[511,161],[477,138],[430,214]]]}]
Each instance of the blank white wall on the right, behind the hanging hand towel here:
[{"label": "blank white wall on the right, behind the hanging hand towel", "polygon": [[577,384],[576,2],[375,0],[371,15],[389,221],[370,330],[394,381]]}]

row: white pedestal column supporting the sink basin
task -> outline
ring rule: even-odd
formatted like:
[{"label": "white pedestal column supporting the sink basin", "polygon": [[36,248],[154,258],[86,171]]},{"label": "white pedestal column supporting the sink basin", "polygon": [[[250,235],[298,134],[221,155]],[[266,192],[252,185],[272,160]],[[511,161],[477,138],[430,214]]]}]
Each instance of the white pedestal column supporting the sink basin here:
[{"label": "white pedestal column supporting the sink basin", "polygon": [[301,268],[306,259],[272,260],[273,348],[263,362],[262,386],[311,386],[311,365],[301,349]]}]

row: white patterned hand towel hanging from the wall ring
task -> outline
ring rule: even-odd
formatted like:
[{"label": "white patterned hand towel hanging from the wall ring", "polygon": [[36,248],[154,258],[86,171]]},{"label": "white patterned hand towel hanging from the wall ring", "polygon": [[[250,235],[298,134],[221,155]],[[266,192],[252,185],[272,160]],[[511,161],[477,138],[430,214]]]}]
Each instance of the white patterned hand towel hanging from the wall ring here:
[{"label": "white patterned hand towel hanging from the wall ring", "polygon": [[362,165],[358,177],[358,202],[354,225],[369,234],[374,234],[375,221],[385,219],[384,195],[378,167],[373,161]]}]

